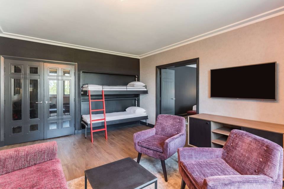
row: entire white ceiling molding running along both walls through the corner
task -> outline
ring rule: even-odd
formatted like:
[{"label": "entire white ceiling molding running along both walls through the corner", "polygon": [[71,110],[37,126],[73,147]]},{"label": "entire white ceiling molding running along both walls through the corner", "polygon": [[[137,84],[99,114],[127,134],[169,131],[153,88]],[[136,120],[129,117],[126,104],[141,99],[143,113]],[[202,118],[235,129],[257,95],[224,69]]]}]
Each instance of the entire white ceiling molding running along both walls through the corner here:
[{"label": "entire white ceiling molding running along both walls through the corner", "polygon": [[281,14],[284,14],[284,6],[281,6],[277,9],[256,15],[254,17],[248,18],[248,19],[244,19],[242,21],[239,22],[235,22],[233,24],[227,25],[225,27],[221,27],[218,28],[216,30],[212,30],[210,32],[206,32],[204,34],[201,35],[197,35],[193,38],[189,38],[183,41],[180,41],[178,43],[174,43],[172,45],[168,45],[165,46],[163,48],[159,48],[157,50],[153,50],[151,52],[148,53],[144,53],[142,55],[132,55],[132,54],[127,54],[127,53],[120,53],[120,52],[114,52],[114,51],[110,51],[110,50],[103,50],[103,49],[97,49],[97,48],[92,48],[92,47],[85,47],[85,46],[81,46],[81,45],[74,45],[74,44],[69,44],[69,43],[62,43],[62,42],[58,42],[58,41],[52,41],[52,40],[46,40],[46,39],[41,39],[41,38],[34,38],[34,37],[30,37],[30,36],[25,36],[25,35],[19,35],[19,34],[13,34],[13,33],[8,33],[8,32],[4,32],[2,30],[2,28],[0,27],[0,36],[2,37],[7,37],[7,38],[14,38],[14,39],[20,39],[20,40],[27,40],[27,41],[33,41],[33,42],[38,42],[38,43],[45,43],[45,44],[50,44],[50,45],[58,45],[58,46],[63,46],[63,47],[69,47],[69,48],[76,48],[76,49],[81,49],[81,50],[89,50],[89,51],[94,51],[94,52],[99,52],[99,53],[107,53],[107,54],[113,54],[113,55],[118,55],[118,56],[126,56],[126,57],[131,57],[131,58],[144,58],[147,56],[151,56],[157,53],[161,53],[173,48],[177,48],[189,43],[193,43],[199,40],[203,40],[215,35],[219,35],[221,33],[225,33],[231,30],[235,30],[238,29],[240,27],[244,27],[250,24],[254,24],[256,22],[260,22],[272,17],[276,17],[279,16]]}]

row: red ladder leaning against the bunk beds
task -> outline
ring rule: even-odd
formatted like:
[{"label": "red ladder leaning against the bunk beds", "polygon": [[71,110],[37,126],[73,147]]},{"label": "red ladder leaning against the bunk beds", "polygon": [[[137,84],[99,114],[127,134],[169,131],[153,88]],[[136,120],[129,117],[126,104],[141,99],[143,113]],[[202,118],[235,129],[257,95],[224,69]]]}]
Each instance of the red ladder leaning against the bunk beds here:
[{"label": "red ladder leaning against the bunk beds", "polygon": [[[89,107],[90,107],[90,124],[91,124],[91,138],[92,138],[92,143],[93,143],[93,132],[97,132],[97,131],[105,131],[105,138],[107,140],[107,132],[106,132],[106,107],[104,105],[104,90],[101,91],[101,95],[103,96],[103,99],[101,100],[91,100],[91,92],[90,90],[88,90],[88,94],[89,94]],[[91,108],[91,102],[98,102],[101,101],[103,102],[103,109],[97,109],[97,110],[92,110]],[[104,118],[103,119],[92,119],[92,112],[96,112],[96,111],[104,111]],[[102,129],[96,129],[93,130],[93,121],[101,121],[104,120],[104,128]]]}]

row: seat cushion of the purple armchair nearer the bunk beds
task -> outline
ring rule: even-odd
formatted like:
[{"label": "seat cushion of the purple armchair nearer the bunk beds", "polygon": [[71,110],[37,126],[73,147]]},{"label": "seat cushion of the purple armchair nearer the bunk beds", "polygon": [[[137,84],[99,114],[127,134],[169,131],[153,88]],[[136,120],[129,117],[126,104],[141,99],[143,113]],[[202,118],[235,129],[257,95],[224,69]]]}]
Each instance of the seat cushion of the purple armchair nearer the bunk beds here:
[{"label": "seat cushion of the purple armchair nearer the bunk beds", "polygon": [[153,135],[141,141],[138,141],[138,146],[142,146],[151,150],[163,153],[164,142],[168,137],[161,135]]}]

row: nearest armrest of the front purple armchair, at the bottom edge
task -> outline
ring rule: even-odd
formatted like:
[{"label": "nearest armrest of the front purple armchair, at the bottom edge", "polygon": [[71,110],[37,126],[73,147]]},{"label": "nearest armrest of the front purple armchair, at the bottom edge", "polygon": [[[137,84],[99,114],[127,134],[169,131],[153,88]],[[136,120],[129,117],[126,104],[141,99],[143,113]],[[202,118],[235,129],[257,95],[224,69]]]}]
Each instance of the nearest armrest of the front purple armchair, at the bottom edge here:
[{"label": "nearest armrest of the front purple armchair, at the bottom edge", "polygon": [[272,178],[266,175],[225,175],[207,177],[201,189],[267,189],[271,188]]}]

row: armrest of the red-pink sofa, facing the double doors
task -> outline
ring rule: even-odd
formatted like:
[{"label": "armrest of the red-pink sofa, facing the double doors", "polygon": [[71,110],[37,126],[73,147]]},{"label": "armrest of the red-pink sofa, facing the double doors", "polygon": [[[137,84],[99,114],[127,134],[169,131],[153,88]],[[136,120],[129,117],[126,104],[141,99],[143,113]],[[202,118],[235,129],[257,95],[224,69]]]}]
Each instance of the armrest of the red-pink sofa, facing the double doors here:
[{"label": "armrest of the red-pink sofa, facing the double doors", "polygon": [[56,141],[0,151],[0,175],[57,158]]}]

